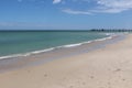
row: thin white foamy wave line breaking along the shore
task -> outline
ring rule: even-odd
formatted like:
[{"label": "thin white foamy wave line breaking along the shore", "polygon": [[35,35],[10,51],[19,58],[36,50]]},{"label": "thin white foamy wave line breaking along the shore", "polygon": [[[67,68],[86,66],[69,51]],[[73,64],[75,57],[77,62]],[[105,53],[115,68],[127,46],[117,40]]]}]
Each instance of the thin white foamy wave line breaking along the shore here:
[{"label": "thin white foamy wave line breaking along the shore", "polygon": [[15,58],[15,57],[22,57],[22,56],[26,57],[26,56],[36,55],[36,54],[41,54],[41,53],[46,53],[46,52],[51,52],[51,51],[55,51],[55,50],[59,50],[59,48],[70,48],[70,47],[76,47],[76,46],[80,46],[80,45],[84,45],[84,44],[89,44],[89,43],[92,43],[92,42],[106,41],[106,40],[109,40],[109,38],[112,38],[113,36],[116,36],[114,33],[105,33],[105,35],[108,35],[108,36],[97,38],[97,40],[90,40],[90,41],[86,41],[86,42],[75,43],[75,44],[66,44],[66,45],[61,45],[61,46],[55,46],[55,47],[50,47],[50,48],[44,48],[44,50],[38,50],[38,51],[33,51],[33,52],[28,52],[28,53],[4,55],[4,56],[0,56],[0,59]]}]

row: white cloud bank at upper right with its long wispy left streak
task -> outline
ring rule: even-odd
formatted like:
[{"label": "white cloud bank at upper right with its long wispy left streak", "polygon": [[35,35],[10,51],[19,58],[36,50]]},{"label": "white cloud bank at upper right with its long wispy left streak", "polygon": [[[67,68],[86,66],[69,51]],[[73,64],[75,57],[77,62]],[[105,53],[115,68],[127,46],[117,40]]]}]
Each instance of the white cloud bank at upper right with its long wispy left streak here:
[{"label": "white cloud bank at upper right with its long wispy left streak", "polygon": [[[127,10],[132,9],[132,0],[82,0],[87,1],[88,6],[89,2],[96,2],[96,7],[87,9],[86,11],[82,10],[72,10],[65,9],[63,12],[73,13],[73,14],[91,14],[91,13],[120,13]],[[88,8],[86,6],[86,8]]]}]

